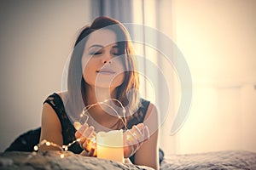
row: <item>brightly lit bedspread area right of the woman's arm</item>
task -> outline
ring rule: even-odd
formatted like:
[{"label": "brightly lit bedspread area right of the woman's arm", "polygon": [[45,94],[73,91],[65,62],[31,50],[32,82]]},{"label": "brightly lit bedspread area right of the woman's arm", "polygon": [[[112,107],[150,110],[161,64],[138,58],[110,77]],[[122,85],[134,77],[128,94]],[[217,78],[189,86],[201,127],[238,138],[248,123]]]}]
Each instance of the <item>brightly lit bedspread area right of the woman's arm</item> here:
[{"label": "brightly lit bedspread area right of the woman's arm", "polygon": [[160,168],[166,170],[256,170],[256,153],[243,150],[225,150],[201,154],[173,155],[162,161]]}]

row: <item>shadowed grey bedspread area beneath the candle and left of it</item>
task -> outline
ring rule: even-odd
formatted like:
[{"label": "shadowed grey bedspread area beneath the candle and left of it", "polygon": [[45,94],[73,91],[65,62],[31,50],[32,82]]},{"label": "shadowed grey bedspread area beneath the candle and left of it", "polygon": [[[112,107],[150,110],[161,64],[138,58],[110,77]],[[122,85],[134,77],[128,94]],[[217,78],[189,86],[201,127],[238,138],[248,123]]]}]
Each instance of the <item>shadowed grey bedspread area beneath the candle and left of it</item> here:
[{"label": "shadowed grey bedspread area beneath the candle and left of it", "polygon": [[60,170],[60,169],[96,169],[96,170],[116,170],[116,169],[145,169],[150,167],[136,166],[133,164],[119,163],[96,157],[79,156],[73,152],[65,152],[61,158],[60,151],[19,152],[11,151],[0,154],[0,170]]}]

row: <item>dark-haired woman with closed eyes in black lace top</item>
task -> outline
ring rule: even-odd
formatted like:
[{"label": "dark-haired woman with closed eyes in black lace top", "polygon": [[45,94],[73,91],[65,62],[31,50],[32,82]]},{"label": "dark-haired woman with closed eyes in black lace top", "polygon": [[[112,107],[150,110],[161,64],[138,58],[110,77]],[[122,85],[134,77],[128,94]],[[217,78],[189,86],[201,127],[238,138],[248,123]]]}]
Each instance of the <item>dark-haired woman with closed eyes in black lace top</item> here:
[{"label": "dark-haired woman with closed eyes in black lace top", "polygon": [[[124,133],[125,158],[158,169],[158,113],[138,95],[133,51],[129,33],[118,20],[99,17],[84,27],[70,59],[67,92],[52,94],[44,101],[40,141],[62,145],[79,139],[68,150],[96,156],[88,141],[97,132],[130,129]],[[88,122],[75,122],[88,105],[94,105],[86,112]],[[133,134],[131,139],[129,134]],[[56,148],[44,144],[39,150]]]}]

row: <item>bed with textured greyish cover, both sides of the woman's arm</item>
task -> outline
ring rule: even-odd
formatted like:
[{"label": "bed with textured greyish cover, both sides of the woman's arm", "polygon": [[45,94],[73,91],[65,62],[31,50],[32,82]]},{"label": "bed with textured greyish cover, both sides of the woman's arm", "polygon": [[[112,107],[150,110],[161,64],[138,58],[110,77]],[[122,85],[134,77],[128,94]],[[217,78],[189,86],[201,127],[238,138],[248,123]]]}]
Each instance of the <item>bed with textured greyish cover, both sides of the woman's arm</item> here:
[{"label": "bed with textured greyish cover, both sides of the woman's arm", "polygon": [[[43,153],[11,151],[0,154],[0,170],[10,169],[145,169],[150,167],[123,164],[116,161],[84,157],[59,151]],[[189,155],[173,155],[165,158],[160,169],[247,169],[256,170],[256,153],[244,150],[226,150]]]}]

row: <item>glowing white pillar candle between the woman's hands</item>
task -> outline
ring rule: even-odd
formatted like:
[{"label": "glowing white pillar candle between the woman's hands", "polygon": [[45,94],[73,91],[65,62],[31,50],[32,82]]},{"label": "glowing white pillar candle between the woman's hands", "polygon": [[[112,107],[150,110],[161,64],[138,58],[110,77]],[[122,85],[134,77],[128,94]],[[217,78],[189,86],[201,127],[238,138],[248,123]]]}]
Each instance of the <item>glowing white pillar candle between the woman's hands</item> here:
[{"label": "glowing white pillar candle between the woman's hands", "polygon": [[96,136],[97,157],[124,162],[123,130],[108,133],[99,132]]}]

